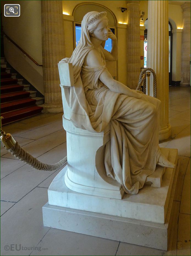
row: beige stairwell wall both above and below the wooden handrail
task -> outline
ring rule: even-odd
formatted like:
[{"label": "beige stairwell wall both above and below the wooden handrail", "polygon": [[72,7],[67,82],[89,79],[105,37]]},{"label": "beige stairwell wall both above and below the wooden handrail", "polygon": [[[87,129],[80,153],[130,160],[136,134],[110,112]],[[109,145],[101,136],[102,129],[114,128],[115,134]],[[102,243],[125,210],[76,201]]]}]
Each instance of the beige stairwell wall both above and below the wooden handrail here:
[{"label": "beige stairwell wall both above and below the wooden handrail", "polygon": [[[20,4],[19,17],[5,17],[2,15],[4,32],[41,65],[41,1],[9,1],[9,4],[18,3]],[[4,10],[4,4],[7,4],[7,1],[1,1],[1,10]],[[4,39],[4,48],[5,58],[10,65],[43,94],[42,67],[35,65],[7,39]]]}]

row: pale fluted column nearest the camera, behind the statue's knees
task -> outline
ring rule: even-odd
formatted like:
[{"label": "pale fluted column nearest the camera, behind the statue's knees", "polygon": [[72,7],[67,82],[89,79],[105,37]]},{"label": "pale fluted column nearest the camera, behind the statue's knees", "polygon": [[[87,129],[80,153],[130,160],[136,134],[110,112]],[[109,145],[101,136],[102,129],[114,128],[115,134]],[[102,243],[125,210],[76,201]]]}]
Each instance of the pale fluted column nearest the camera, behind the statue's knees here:
[{"label": "pale fluted column nearest the camera, behind the statue's knees", "polygon": [[168,1],[148,1],[147,67],[157,77],[157,98],[161,101],[159,140],[169,138],[168,123]]}]

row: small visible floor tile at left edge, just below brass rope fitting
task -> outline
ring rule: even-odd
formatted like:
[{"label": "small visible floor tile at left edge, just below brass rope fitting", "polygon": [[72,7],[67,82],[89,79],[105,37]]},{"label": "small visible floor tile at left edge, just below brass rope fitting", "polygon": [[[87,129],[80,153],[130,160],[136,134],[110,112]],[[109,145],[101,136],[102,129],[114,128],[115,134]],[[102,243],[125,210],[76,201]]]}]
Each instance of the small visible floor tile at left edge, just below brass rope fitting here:
[{"label": "small visible floor tile at left edge, just below brass rope fitting", "polygon": [[25,163],[21,162],[20,160],[7,159],[4,157],[1,157],[1,172],[0,172],[1,179],[9,175],[13,171],[17,170],[18,168],[22,167],[23,165],[25,165]]}]

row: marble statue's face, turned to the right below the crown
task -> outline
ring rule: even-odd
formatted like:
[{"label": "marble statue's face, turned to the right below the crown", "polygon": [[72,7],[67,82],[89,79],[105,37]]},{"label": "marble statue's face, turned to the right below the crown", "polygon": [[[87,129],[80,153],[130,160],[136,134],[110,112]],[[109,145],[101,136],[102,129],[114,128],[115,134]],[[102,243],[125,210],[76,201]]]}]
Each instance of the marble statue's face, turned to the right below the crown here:
[{"label": "marble statue's face, turned to the right below the crown", "polygon": [[106,41],[108,39],[108,21],[107,19],[103,19],[99,22],[98,26],[95,28],[91,36],[101,40]]}]

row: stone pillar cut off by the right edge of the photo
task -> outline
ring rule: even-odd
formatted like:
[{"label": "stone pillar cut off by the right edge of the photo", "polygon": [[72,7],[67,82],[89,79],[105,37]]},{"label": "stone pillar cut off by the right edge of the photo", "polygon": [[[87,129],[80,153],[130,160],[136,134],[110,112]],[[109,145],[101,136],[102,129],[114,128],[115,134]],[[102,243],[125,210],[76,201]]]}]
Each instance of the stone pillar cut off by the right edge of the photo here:
[{"label": "stone pillar cut off by the right edge of the photo", "polygon": [[190,86],[190,3],[182,4],[183,31],[182,31],[182,64],[180,86]]}]

